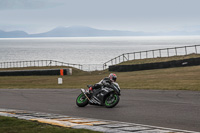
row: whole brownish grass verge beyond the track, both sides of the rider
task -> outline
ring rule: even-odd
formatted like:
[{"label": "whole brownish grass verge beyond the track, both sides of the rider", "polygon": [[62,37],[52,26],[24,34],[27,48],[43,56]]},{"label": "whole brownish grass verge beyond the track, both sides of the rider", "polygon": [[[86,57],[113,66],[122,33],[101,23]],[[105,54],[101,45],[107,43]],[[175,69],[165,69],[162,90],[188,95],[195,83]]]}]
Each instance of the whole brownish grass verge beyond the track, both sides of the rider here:
[{"label": "whole brownish grass verge beyond the track, both sides of the rider", "polygon": [[[175,58],[188,57],[173,57]],[[86,85],[99,82],[109,73],[108,70],[84,72],[73,69],[73,75],[62,76],[62,85],[58,85],[58,78],[61,76],[1,76],[0,88],[86,88]],[[122,89],[200,90],[200,66],[114,73],[117,74],[117,82]]]}]

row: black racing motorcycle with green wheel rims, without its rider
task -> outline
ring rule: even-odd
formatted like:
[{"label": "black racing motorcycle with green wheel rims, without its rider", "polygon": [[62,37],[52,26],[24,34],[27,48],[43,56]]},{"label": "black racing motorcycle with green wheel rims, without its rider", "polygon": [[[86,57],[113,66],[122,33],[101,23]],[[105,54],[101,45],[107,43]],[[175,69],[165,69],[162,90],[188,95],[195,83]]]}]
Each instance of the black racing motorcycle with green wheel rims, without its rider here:
[{"label": "black racing motorcycle with green wheel rims, without its rider", "polygon": [[[88,85],[87,87],[92,86]],[[112,87],[102,86],[93,90],[81,88],[81,94],[77,97],[76,104],[78,107],[85,107],[90,104],[113,108],[118,104],[120,95],[120,87],[117,83],[113,83]]]}]

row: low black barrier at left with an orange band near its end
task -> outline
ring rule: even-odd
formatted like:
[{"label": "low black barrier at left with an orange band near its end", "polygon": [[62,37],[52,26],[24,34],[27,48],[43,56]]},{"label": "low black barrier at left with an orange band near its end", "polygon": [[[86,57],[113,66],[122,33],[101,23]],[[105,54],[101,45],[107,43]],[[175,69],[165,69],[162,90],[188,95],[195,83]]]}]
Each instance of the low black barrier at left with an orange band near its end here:
[{"label": "low black barrier at left with an orange band near its end", "polygon": [[0,76],[42,76],[42,75],[72,75],[71,68],[0,71]]}]

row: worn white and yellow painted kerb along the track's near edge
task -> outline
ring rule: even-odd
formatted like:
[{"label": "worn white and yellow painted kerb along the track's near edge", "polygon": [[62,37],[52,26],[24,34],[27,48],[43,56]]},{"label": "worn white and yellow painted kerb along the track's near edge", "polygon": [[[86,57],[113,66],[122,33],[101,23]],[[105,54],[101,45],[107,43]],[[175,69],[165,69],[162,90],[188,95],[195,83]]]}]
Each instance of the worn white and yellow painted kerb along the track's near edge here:
[{"label": "worn white and yellow painted kerb along the track's near edge", "polygon": [[106,133],[197,133],[193,131],[163,128],[135,123],[100,120],[92,118],[71,117],[59,114],[40,113],[25,110],[1,109],[0,116],[16,117],[18,119],[38,121],[62,127],[89,129]]}]

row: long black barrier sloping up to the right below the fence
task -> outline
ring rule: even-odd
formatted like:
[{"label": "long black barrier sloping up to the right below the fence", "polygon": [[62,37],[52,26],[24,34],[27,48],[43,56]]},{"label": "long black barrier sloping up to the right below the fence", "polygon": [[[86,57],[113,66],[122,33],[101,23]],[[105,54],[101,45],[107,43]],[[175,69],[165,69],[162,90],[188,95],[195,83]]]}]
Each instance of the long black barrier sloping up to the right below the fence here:
[{"label": "long black barrier sloping up to the right below the fence", "polygon": [[200,58],[174,60],[174,61],[158,62],[158,63],[136,64],[136,65],[113,65],[109,66],[109,71],[128,72],[128,71],[140,71],[140,70],[151,70],[151,69],[195,66],[195,65],[200,65]]}]

